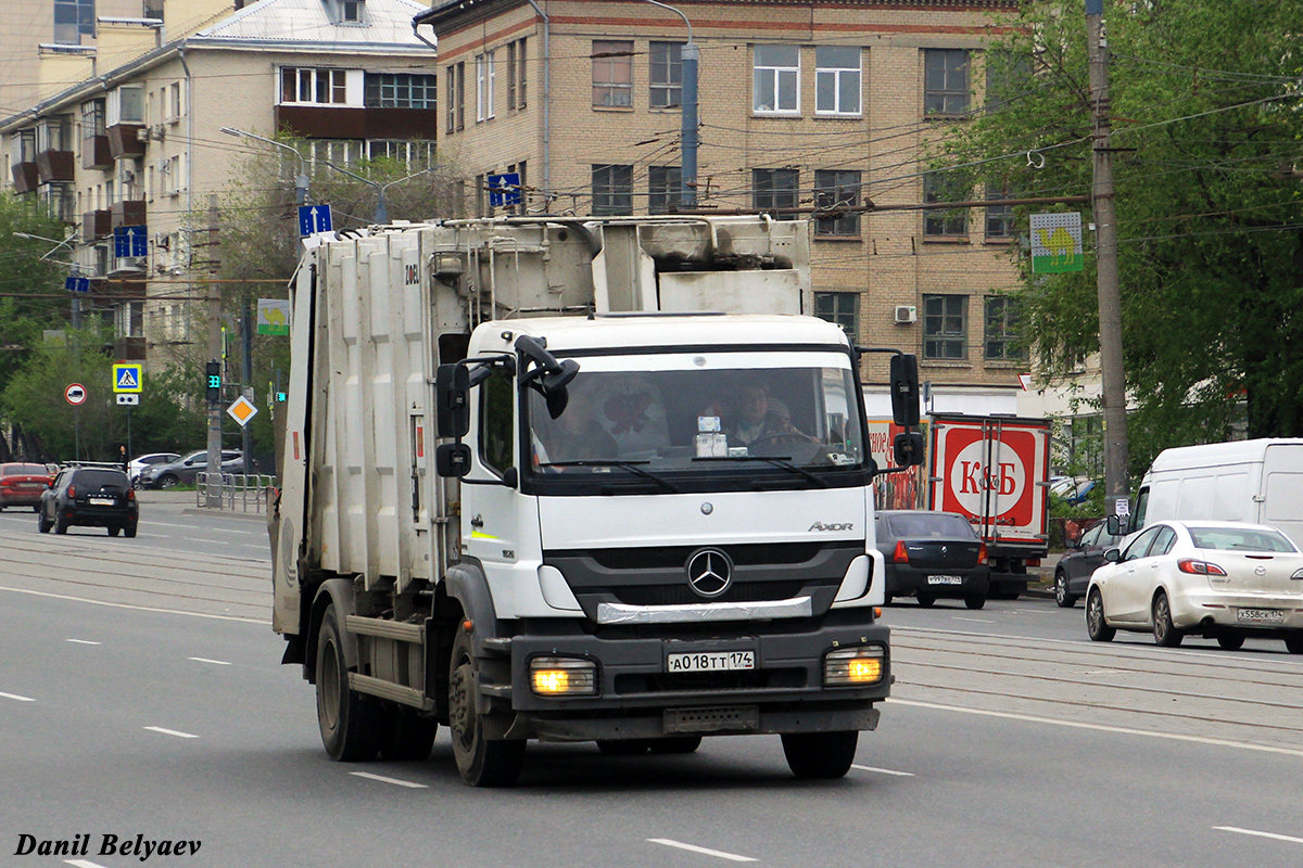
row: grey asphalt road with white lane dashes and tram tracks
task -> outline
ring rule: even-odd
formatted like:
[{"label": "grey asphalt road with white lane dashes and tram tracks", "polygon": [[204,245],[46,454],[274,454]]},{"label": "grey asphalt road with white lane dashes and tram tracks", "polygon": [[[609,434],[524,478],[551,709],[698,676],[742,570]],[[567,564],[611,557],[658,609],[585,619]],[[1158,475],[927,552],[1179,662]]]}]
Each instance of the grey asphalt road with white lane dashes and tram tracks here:
[{"label": "grey asphalt road with white lane dashes and tram tracks", "polygon": [[[1281,643],[1105,645],[1080,606],[906,604],[893,700],[842,781],[795,781],[757,737],[532,744],[517,787],[472,790],[443,733],[426,763],[324,756],[265,560],[122,543],[0,522],[0,864],[142,864],[104,835],[223,867],[1303,864],[1303,658]],[[18,856],[23,834],[87,854]]]}]

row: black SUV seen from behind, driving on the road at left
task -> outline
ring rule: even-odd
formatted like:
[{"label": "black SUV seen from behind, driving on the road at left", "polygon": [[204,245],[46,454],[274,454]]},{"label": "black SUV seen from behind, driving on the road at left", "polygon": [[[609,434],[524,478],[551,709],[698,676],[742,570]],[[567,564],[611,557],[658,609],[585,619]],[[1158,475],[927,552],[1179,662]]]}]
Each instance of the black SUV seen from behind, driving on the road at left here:
[{"label": "black SUV seen from behind, driving on the road at left", "polygon": [[42,492],[36,508],[36,530],[66,534],[69,527],[107,527],[109,536],[119,531],[136,536],[139,504],[130,478],[116,466],[73,465],[55,476]]}]

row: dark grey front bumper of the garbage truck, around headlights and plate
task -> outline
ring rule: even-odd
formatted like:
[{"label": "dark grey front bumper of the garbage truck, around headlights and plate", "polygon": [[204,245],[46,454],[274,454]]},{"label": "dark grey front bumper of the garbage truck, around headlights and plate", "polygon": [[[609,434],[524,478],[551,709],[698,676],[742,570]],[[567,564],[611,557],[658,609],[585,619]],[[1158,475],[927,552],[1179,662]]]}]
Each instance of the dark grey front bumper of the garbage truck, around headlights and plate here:
[{"label": "dark grey front bumper of the garbage truck, around headlights and plate", "polygon": [[[506,674],[509,666],[509,685],[481,683],[480,699],[506,738],[593,740],[869,730],[878,721],[874,704],[887,698],[893,681],[889,635],[881,623],[830,626],[829,621],[805,632],[728,639],[517,635],[493,643],[502,655],[502,668],[489,669]],[[861,647],[881,652],[881,677],[864,686],[825,686],[825,655]],[[671,656],[681,660],[679,655],[737,655],[753,665],[670,671]],[[559,699],[534,694],[529,670],[536,657],[594,662],[595,695]]]}]

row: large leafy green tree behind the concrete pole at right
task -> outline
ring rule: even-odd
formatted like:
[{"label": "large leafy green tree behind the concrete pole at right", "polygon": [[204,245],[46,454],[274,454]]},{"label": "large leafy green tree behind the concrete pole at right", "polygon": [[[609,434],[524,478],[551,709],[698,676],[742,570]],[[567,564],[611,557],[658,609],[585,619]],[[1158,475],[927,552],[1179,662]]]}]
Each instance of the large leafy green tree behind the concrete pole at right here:
[{"label": "large leafy green tree behind the concrete pole at right", "polygon": [[[1108,3],[1111,144],[1132,470],[1165,446],[1303,435],[1303,4]],[[946,129],[929,168],[988,191],[1087,194],[1091,100],[1081,0],[1024,4],[977,64],[985,111]],[[975,77],[976,78],[976,77]],[[1029,211],[1070,208],[1022,208]],[[1084,220],[1089,220],[1089,215]],[[1045,377],[1098,349],[1093,258],[1032,275],[1018,256]]]}]

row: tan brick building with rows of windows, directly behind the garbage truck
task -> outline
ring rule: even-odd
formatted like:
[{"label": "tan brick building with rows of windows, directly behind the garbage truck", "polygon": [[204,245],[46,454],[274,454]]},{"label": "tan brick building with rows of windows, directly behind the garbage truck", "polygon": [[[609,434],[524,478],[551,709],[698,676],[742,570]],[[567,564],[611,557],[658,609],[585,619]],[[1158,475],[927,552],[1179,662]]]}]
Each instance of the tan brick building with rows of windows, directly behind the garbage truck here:
[{"label": "tan brick building with rows of windows, directly behind the garbage truck", "polygon": [[[829,208],[813,215],[813,312],[917,353],[937,410],[1015,411],[1011,210],[887,208],[1001,195],[946,191],[920,157],[981,108],[989,14],[1016,4],[671,5],[700,53],[698,207]],[[483,178],[509,172],[530,212],[678,204],[683,17],[642,0],[447,0],[418,21],[438,36],[440,148],[472,176],[469,210],[487,213]]]}]

